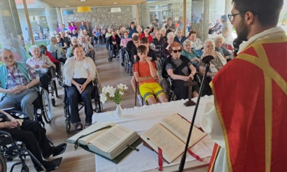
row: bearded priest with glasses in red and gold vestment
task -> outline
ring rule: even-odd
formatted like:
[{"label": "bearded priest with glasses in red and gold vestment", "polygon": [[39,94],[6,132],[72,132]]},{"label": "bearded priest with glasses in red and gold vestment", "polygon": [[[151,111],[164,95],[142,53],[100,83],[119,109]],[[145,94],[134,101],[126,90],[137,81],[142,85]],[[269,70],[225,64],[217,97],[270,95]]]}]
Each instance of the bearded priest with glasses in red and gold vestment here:
[{"label": "bearded priest with glasses in red and gold vestment", "polygon": [[243,40],[210,83],[215,106],[202,128],[217,143],[209,171],[287,171],[287,36],[283,0],[232,0],[228,18]]}]

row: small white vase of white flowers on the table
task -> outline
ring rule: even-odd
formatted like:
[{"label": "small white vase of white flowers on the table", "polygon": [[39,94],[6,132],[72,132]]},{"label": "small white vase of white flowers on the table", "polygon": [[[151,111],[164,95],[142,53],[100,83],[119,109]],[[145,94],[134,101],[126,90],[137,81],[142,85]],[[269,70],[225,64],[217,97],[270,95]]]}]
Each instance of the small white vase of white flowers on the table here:
[{"label": "small white vase of white flowers on the table", "polygon": [[122,107],[120,106],[120,102],[124,100],[124,92],[128,90],[126,85],[122,83],[117,85],[116,87],[107,86],[102,87],[102,94],[100,94],[100,102],[105,103],[107,100],[113,100],[115,104],[117,104],[117,109],[115,109],[115,115],[118,117],[122,116]]}]

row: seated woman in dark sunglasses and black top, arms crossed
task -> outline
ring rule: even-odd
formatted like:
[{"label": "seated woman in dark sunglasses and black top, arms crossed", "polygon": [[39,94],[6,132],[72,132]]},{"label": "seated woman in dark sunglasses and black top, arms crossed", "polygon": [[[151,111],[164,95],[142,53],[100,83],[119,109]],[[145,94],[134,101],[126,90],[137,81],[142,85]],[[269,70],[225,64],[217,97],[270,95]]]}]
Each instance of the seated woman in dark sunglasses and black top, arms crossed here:
[{"label": "seated woman in dark sunglasses and black top, arms crossed", "polygon": [[[184,83],[193,80],[196,69],[187,57],[180,55],[182,46],[178,42],[170,44],[169,52],[171,56],[165,60],[163,68],[172,78],[172,90],[176,94],[176,99],[187,99],[189,98],[189,87]],[[198,96],[198,85],[193,85],[192,96]]]}]

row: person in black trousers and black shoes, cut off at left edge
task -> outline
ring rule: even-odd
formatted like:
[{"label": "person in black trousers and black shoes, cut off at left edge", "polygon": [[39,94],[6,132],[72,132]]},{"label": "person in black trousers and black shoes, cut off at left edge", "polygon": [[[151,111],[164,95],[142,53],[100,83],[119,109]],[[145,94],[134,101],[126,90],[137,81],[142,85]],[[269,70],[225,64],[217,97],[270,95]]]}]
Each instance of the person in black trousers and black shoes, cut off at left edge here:
[{"label": "person in black trousers and black shoes, cut off at left edge", "polygon": [[[67,144],[61,143],[56,147],[52,147],[49,139],[46,137],[46,130],[42,128],[38,121],[15,119],[12,115],[0,109],[0,130],[9,132],[13,139],[25,143],[25,147],[39,160],[47,171],[57,169],[57,164],[53,160],[43,160],[42,156],[46,159],[51,155],[57,156],[63,154]],[[42,168],[38,167],[36,162],[33,161],[33,163],[36,171],[42,171]]]}]

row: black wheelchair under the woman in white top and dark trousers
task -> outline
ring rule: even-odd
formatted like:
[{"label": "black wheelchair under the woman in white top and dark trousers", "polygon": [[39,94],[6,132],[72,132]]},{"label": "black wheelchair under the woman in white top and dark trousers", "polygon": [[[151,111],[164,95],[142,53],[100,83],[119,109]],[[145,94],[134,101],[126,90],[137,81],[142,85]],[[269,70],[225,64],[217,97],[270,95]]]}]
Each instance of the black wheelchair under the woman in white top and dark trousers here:
[{"label": "black wheelchair under the woman in white top and dark trousers", "polygon": [[[97,77],[97,76],[96,76]],[[102,112],[102,102],[100,102],[100,83],[98,82],[98,79],[95,78],[93,81],[94,84],[94,91],[92,92],[94,102],[95,102],[95,109],[93,109],[94,112],[96,113],[101,113]],[[71,113],[70,113],[70,104],[67,98],[67,92],[66,92],[66,85],[64,85],[64,92],[63,92],[63,104],[64,104],[64,115],[66,117],[65,119],[65,124],[66,124],[66,132],[70,132],[71,128]],[[83,100],[81,100],[81,97],[79,97],[78,100],[79,104],[81,104],[81,107],[79,108],[79,111],[83,109],[84,104]]]}]

